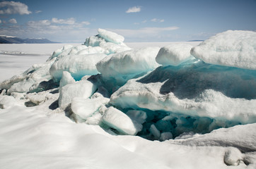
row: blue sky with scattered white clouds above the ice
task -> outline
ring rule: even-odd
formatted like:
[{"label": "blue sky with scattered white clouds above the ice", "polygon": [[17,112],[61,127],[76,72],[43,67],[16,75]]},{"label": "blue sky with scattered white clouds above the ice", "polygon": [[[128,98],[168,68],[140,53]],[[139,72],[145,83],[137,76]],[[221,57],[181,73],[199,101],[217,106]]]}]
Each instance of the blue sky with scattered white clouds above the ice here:
[{"label": "blue sky with scattered white clouds above the ice", "polygon": [[124,36],[124,42],[256,31],[256,0],[0,0],[0,35],[81,43],[98,28]]}]

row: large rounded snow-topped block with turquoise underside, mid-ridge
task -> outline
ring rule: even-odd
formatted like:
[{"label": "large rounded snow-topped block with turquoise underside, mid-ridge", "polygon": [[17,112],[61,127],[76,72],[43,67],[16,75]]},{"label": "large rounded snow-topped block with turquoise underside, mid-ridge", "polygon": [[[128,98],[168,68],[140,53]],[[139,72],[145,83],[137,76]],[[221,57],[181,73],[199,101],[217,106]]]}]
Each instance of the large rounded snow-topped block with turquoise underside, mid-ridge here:
[{"label": "large rounded snow-topped block with turquoise underside, mid-ridge", "polygon": [[145,47],[109,55],[96,64],[103,77],[129,80],[139,73],[153,70],[158,66],[156,55],[159,47]]}]

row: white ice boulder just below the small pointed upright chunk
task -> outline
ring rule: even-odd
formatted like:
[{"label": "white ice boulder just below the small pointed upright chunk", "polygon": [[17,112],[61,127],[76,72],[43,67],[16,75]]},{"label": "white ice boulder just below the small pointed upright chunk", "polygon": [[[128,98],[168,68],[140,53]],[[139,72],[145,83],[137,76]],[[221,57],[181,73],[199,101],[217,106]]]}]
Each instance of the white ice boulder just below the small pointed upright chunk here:
[{"label": "white ice boulder just below the small pointed upright chunk", "polygon": [[97,89],[97,86],[88,80],[81,80],[73,84],[66,84],[59,91],[59,107],[66,108],[75,97],[88,98]]}]

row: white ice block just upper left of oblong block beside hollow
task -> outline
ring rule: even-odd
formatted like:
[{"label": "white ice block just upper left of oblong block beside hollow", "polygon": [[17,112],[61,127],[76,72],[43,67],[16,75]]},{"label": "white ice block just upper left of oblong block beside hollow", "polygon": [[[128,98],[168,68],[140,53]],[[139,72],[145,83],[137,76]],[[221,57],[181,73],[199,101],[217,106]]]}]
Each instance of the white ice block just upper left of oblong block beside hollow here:
[{"label": "white ice block just upper left of oblong block beside hollow", "polygon": [[71,109],[79,118],[86,120],[93,115],[93,113],[97,112],[101,106],[107,104],[108,101],[110,101],[110,99],[103,96],[94,99],[76,97],[72,99]]}]

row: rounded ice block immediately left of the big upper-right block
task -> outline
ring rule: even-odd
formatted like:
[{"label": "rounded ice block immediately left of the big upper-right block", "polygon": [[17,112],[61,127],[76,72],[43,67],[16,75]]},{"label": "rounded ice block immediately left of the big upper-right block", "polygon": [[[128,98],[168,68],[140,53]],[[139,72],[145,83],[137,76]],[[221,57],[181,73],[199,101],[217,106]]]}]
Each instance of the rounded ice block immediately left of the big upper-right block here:
[{"label": "rounded ice block immediately left of the big upper-right block", "polygon": [[192,47],[190,44],[170,44],[164,46],[158,52],[156,62],[164,66],[179,65],[188,58],[193,57],[190,55]]}]

